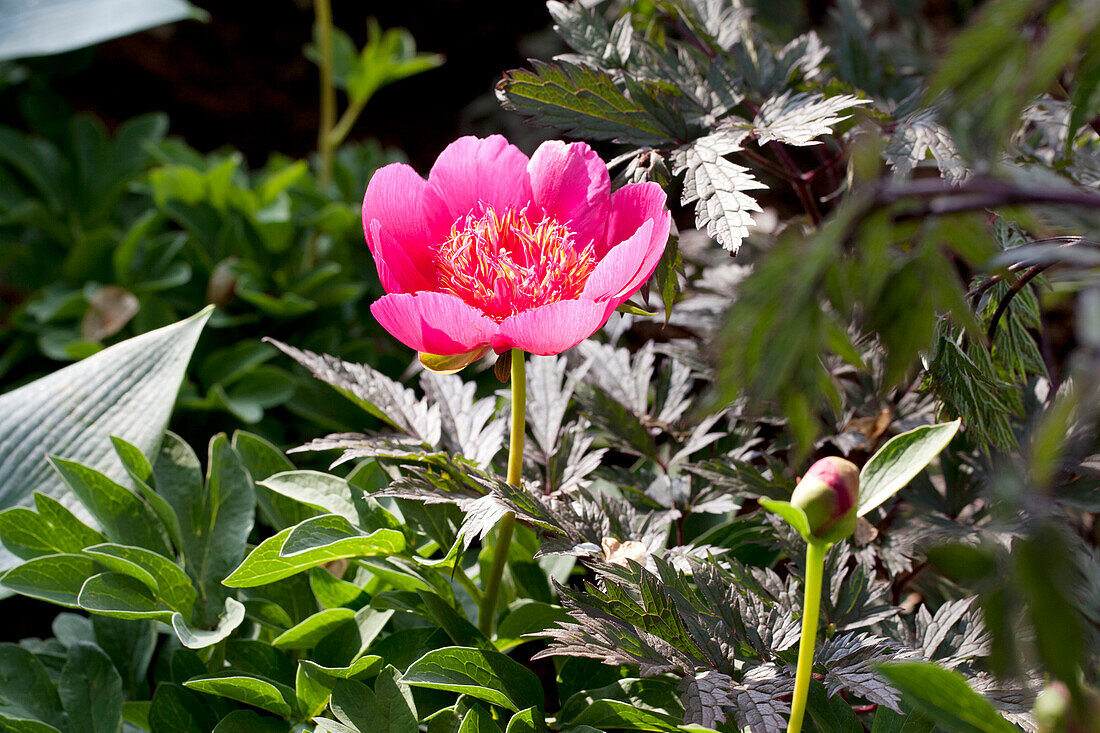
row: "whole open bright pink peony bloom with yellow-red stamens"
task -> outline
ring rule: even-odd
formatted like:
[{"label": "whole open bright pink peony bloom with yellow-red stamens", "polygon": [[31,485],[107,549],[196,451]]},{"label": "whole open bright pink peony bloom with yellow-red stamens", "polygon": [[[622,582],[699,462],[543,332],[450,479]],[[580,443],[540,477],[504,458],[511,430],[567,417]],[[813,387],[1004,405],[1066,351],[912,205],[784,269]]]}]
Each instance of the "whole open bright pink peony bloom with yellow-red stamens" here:
[{"label": "whole open bright pink peony bloom with yellow-red stamens", "polygon": [[371,313],[410,349],[460,363],[490,348],[560,353],[649,280],[670,221],[660,186],[612,193],[584,143],[528,158],[501,135],[461,138],[427,180],[402,163],[371,179],[363,229],[387,293]]}]

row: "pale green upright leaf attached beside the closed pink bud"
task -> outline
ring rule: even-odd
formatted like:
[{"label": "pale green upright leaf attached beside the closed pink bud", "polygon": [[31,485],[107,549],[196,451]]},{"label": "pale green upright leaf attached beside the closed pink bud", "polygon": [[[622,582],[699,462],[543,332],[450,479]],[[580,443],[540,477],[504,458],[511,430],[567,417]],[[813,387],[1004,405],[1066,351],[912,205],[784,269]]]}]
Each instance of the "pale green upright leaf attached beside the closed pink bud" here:
[{"label": "pale green upright leaf attached beside the closed pink bud", "polygon": [[857,516],[864,516],[904,489],[947,447],[960,425],[959,420],[924,425],[887,441],[859,472]]}]

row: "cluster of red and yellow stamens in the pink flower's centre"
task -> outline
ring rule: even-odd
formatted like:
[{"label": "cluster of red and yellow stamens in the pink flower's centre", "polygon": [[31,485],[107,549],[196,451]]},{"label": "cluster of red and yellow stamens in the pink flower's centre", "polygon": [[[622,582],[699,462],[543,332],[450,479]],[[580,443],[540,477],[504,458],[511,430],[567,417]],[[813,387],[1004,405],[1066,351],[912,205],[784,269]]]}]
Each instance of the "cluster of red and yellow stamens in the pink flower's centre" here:
[{"label": "cluster of red and yellow stamens in the pink flower's centre", "polygon": [[437,250],[439,291],[450,293],[495,320],[581,295],[596,266],[592,247],[550,218],[531,222],[526,210],[503,216],[492,208],[451,228]]}]

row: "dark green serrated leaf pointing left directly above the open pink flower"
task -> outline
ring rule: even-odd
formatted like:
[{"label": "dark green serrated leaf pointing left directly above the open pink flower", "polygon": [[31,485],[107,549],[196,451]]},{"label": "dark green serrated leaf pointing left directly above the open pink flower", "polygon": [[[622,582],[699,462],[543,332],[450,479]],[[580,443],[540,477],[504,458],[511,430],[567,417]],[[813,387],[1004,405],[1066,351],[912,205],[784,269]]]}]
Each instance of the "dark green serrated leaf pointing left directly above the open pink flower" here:
[{"label": "dark green serrated leaf pointing left directly above the open pink flower", "polygon": [[632,145],[659,146],[685,136],[682,118],[666,113],[658,119],[652,113],[663,92],[654,84],[631,83],[627,96],[609,74],[591,66],[539,61],[531,66],[505,72],[497,97],[506,109],[539,124]]}]

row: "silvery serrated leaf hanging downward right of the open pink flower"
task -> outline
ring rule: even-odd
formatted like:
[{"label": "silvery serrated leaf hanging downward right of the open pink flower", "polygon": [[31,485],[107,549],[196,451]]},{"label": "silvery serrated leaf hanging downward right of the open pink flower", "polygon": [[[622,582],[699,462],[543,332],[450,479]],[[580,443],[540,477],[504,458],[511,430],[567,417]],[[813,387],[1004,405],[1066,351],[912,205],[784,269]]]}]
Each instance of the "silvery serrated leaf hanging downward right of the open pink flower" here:
[{"label": "silvery serrated leaf hanging downward right of the open pink flower", "polygon": [[685,174],[683,203],[695,204],[695,226],[735,254],[748,234],[752,211],[761,210],[745,192],[767,188],[751,171],[725,158],[740,150],[743,136],[716,132],[678,149],[672,156],[674,172]]}]

